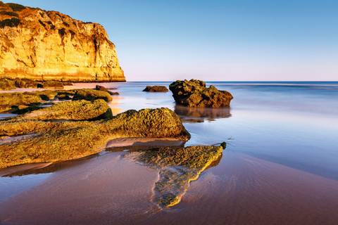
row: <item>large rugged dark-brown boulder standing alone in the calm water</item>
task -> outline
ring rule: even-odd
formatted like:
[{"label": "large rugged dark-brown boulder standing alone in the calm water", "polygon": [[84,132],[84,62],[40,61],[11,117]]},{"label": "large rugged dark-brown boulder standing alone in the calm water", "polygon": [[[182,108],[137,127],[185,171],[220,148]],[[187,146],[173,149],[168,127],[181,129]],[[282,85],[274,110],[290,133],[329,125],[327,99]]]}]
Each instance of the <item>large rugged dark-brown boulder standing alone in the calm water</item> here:
[{"label": "large rugged dark-brown boulder standing alone in the calm water", "polygon": [[175,102],[189,107],[220,108],[230,105],[232,95],[227,91],[220,91],[198,79],[177,80],[169,86],[173,92]]}]

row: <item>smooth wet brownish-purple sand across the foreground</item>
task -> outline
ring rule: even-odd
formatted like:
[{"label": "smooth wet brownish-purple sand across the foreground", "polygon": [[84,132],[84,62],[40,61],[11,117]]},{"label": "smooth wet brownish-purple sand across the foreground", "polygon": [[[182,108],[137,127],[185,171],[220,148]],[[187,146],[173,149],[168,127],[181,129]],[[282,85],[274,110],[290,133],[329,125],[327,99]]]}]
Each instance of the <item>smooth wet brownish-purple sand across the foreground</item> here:
[{"label": "smooth wet brownish-purple sand across the foreground", "polygon": [[[151,202],[158,171],[104,153],[0,203],[2,224],[337,224],[338,181],[223,153],[182,202]],[[212,207],[211,207],[212,205]]]}]

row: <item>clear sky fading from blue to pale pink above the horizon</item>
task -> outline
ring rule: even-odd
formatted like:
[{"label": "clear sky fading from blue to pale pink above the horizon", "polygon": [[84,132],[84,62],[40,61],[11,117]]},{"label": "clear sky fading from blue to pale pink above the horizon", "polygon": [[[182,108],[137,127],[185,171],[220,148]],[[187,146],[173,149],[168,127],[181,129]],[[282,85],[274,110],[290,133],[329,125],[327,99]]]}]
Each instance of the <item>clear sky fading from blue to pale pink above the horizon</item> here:
[{"label": "clear sky fading from blue to pale pink above the horizon", "polygon": [[104,25],[127,81],[337,81],[337,0],[22,0]]}]

